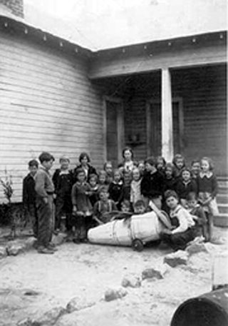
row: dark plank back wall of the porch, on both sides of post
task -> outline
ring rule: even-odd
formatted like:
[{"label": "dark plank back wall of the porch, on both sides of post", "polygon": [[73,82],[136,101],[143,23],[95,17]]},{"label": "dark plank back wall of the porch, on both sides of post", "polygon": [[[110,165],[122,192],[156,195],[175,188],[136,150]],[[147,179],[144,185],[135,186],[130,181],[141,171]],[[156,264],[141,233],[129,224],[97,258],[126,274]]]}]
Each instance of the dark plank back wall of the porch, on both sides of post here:
[{"label": "dark plank back wall of the porch, on both sides of post", "polygon": [[[182,98],[183,103],[182,154],[189,164],[194,158],[209,156],[219,175],[227,174],[226,76],[225,65],[172,71],[172,97]],[[150,99],[160,100],[160,77],[157,73],[135,76],[125,96],[125,144],[129,143],[130,134],[140,134],[133,150],[137,160],[144,159],[147,156],[146,103]]]}]

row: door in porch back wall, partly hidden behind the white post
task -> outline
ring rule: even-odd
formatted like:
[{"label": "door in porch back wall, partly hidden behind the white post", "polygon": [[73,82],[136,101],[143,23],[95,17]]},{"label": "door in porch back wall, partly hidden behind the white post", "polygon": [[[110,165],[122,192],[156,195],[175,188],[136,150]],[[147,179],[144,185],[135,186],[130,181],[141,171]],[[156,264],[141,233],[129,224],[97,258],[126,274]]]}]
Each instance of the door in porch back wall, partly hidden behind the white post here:
[{"label": "door in porch back wall, partly hidden behind the white post", "polygon": [[[162,110],[160,101],[147,103],[147,156],[162,155]],[[172,130],[174,153],[182,152],[183,114],[182,100],[172,101]]]}]

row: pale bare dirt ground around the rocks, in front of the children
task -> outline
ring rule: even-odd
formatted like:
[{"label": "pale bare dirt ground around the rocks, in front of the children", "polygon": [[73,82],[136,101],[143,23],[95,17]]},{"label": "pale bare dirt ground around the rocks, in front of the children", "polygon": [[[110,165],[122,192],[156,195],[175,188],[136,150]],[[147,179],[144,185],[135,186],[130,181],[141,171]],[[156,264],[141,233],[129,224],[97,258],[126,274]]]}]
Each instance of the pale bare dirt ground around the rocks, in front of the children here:
[{"label": "pale bare dirt ground around the rocks, in front of the children", "polygon": [[[227,241],[227,229],[218,229],[217,234]],[[145,248],[137,253],[131,248],[65,243],[54,255],[30,250],[9,256],[0,260],[0,325],[36,319],[82,296],[95,305],[61,317],[56,325],[168,326],[180,303],[212,288],[214,256],[227,250],[227,242],[206,247],[208,253],[197,253],[187,265],[169,268],[162,280],[143,280],[141,287],[128,287],[128,295],[111,302],[104,300],[108,287],[120,286],[129,273],[141,276],[145,268],[162,263],[171,250]],[[36,295],[26,295],[31,290]]]}]

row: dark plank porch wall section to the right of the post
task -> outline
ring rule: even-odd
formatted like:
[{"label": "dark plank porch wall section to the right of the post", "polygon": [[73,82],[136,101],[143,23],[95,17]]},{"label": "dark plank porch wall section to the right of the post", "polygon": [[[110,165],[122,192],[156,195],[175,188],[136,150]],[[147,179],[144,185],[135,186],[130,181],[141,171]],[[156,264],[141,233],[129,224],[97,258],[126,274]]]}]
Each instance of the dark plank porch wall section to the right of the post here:
[{"label": "dark plank porch wall section to the right of the post", "polygon": [[227,68],[205,66],[173,71],[173,96],[183,99],[184,155],[209,156],[227,175]]}]

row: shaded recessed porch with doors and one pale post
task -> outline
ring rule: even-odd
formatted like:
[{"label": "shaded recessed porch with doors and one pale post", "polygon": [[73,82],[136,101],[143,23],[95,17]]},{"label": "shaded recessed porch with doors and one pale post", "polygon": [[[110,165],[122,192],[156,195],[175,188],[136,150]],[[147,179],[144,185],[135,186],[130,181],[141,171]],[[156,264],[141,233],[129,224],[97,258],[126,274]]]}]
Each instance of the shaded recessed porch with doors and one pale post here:
[{"label": "shaded recessed porch with doors and one pale post", "polygon": [[226,64],[163,69],[93,81],[103,95],[105,159],[121,161],[123,146],[136,160],[182,153],[209,156],[227,175]]}]

